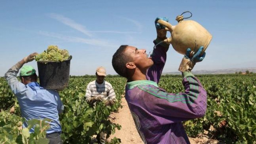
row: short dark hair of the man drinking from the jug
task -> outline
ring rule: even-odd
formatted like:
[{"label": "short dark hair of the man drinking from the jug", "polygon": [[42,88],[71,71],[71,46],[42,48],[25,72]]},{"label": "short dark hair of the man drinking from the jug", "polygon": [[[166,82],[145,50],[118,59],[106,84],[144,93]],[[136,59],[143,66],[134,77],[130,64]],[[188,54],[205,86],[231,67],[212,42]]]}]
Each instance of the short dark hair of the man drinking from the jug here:
[{"label": "short dark hair of the man drinking from the jug", "polygon": [[132,57],[127,55],[124,51],[129,45],[121,45],[112,57],[112,66],[116,73],[120,76],[128,78],[126,63],[132,61]]}]

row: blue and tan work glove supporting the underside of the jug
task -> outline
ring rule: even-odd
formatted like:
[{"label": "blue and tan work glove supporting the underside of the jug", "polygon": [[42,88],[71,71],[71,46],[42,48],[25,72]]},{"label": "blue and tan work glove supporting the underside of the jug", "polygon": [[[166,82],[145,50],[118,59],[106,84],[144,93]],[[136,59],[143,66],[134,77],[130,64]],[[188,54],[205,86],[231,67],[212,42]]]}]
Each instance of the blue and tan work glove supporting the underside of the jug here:
[{"label": "blue and tan work glove supporting the underside of the jug", "polygon": [[196,54],[190,57],[191,49],[188,48],[186,51],[186,55],[181,60],[180,67],[178,70],[181,72],[191,71],[197,62],[204,60],[205,52],[201,55],[201,52],[203,51],[203,49],[204,47],[201,46],[196,52]]}]

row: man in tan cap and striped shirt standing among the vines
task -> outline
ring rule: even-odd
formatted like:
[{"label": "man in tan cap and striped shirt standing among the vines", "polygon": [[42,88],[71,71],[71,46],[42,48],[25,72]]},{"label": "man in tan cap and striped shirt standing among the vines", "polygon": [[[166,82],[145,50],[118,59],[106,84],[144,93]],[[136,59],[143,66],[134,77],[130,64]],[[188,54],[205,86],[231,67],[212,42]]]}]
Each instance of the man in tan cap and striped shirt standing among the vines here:
[{"label": "man in tan cap and striped shirt standing among the vines", "polygon": [[[97,101],[104,100],[106,106],[114,104],[116,100],[114,89],[110,83],[104,80],[106,77],[106,69],[104,67],[99,67],[96,69],[95,74],[97,79],[87,85],[85,93],[86,102],[95,105]],[[97,140],[98,143],[105,143],[104,132],[100,132],[97,135]]]}]

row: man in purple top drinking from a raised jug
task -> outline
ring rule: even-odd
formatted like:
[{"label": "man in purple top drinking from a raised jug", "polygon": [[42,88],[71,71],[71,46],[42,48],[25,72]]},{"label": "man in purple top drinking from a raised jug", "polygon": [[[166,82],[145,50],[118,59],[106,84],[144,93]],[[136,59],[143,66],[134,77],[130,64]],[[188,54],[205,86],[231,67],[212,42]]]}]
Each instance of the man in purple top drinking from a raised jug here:
[{"label": "man in purple top drinking from a raised jug", "polygon": [[121,45],[113,55],[112,66],[127,78],[125,99],[144,143],[190,143],[182,121],[204,116],[207,104],[207,94],[190,70],[205,54],[200,56],[203,47],[193,57],[189,57],[191,50],[187,50],[179,68],[185,92],[168,93],[158,87],[169,48],[169,44],[159,44],[166,39],[164,27],[157,23],[159,19],[168,21],[162,17],[155,21],[156,49],[151,57],[147,57],[145,49]]}]

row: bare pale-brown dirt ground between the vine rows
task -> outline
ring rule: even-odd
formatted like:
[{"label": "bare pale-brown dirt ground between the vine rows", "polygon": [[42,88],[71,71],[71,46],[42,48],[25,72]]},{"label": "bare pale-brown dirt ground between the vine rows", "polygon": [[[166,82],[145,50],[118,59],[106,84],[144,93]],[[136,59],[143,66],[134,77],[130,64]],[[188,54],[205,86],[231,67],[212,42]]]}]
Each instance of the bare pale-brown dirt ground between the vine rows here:
[{"label": "bare pale-brown dirt ground between the vine rows", "polygon": [[[121,130],[116,129],[116,133],[110,135],[108,141],[116,137],[121,139],[121,143],[123,144],[144,144],[139,133],[137,132],[125,98],[122,98],[121,104],[123,108],[120,108],[118,113],[112,113],[110,115],[110,120],[113,123],[120,124],[122,128]],[[191,144],[220,144],[219,141],[209,140],[207,136],[203,135],[198,138],[189,138],[189,140]]]}]

